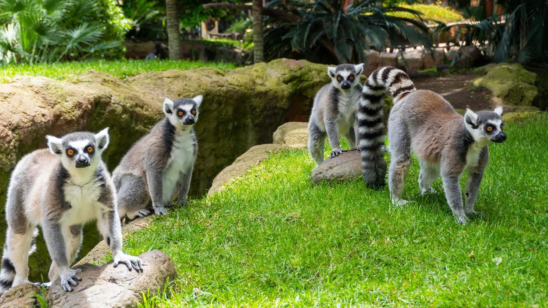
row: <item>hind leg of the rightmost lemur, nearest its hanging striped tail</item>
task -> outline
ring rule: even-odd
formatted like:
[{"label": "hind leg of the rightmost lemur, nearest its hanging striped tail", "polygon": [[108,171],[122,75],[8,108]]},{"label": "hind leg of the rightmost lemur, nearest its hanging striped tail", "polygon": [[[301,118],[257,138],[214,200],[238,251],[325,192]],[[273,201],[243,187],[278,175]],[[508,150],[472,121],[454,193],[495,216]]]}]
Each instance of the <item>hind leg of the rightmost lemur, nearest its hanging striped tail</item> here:
[{"label": "hind leg of the rightmost lemur, nearest its hanging striped tail", "polygon": [[390,142],[390,169],[388,175],[390,193],[393,204],[406,204],[401,199],[403,187],[406,184],[407,173],[413,162],[411,158],[411,143],[407,129],[403,124],[389,121],[388,139]]}]

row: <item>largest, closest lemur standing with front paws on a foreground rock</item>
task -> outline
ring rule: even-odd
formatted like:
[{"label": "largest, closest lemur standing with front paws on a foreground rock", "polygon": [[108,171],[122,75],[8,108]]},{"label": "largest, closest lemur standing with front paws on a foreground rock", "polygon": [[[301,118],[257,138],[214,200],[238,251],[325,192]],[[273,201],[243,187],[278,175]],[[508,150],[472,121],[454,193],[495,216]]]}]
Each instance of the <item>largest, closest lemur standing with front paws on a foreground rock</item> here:
[{"label": "largest, closest lemur standing with front paws on a foreground rock", "polygon": [[98,134],[76,132],[56,138],[47,136],[47,149],[36,150],[15,166],[5,206],[8,230],[0,272],[0,294],[28,282],[28,255],[42,226],[45,243],[53,260],[50,286],[61,277],[61,286],[72,291],[82,278],[73,270],[82,244],[82,226],[97,220],[102,236],[110,245],[114,265],[127,264],[142,271],[141,260],[122,253],[122,229],[114,185],[101,160],[109,144],[108,128]]}]

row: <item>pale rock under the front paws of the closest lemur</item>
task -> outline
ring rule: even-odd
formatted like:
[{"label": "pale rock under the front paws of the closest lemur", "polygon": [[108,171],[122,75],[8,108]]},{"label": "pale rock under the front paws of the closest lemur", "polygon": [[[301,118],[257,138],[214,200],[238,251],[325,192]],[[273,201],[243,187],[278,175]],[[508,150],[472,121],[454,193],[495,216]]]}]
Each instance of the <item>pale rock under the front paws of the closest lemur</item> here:
[{"label": "pale rock under the front paws of the closest lemur", "polygon": [[49,288],[47,295],[51,307],[136,307],[142,301],[142,292],[151,294],[163,288],[165,280],[172,281],[177,270],[169,256],[159,250],[139,255],[145,267],[143,272],[128,270],[124,264],[112,266],[112,261],[101,266],[83,264],[75,268],[82,281],[65,292],[60,278]]}]

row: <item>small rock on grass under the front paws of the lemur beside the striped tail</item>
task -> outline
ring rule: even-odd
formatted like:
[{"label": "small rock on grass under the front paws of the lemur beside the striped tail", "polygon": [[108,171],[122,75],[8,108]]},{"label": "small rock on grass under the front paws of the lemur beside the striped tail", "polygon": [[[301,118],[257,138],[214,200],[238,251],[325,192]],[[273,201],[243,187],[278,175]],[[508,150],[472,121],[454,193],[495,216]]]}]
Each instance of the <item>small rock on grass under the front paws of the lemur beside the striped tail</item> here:
[{"label": "small rock on grass under the front paws of the lemur beside the striped tail", "polygon": [[312,170],[311,179],[315,183],[327,181],[353,180],[362,176],[362,156],[359,151],[347,151],[334,158],[327,158]]}]

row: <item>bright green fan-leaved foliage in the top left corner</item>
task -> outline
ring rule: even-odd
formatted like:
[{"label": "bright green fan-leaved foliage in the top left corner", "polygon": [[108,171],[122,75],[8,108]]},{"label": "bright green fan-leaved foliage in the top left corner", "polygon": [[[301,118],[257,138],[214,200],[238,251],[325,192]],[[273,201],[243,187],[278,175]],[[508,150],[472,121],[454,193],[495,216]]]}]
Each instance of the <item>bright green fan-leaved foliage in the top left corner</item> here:
[{"label": "bright green fan-leaved foliage in the top left corner", "polygon": [[108,1],[0,0],[0,64],[112,55],[124,32],[108,20]]}]

